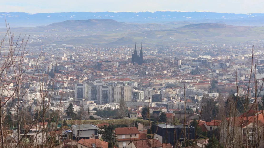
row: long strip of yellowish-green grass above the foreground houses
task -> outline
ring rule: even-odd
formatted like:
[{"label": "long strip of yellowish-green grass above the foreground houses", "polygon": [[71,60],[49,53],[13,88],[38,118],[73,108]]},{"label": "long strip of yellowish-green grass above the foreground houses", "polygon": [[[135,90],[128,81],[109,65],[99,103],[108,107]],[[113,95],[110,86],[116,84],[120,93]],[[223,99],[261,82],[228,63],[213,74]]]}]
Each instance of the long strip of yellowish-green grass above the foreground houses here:
[{"label": "long strip of yellowish-green grass above the foreground houses", "polygon": [[[149,121],[143,120],[143,119],[115,119],[115,120],[68,120],[66,121],[67,124],[103,124],[103,123],[108,123],[108,124],[128,124],[132,125],[135,122],[138,123],[143,123],[144,125],[149,125]],[[151,121],[150,121],[151,122]]]}]

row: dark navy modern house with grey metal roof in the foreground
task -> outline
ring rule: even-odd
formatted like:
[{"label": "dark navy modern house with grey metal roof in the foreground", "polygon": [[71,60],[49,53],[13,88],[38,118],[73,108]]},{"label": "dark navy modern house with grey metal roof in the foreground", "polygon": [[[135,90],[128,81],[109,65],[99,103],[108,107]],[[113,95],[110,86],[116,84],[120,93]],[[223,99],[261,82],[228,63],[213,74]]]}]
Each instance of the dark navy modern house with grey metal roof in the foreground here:
[{"label": "dark navy modern house with grey metal roof in the foreground", "polygon": [[161,143],[171,144],[172,146],[175,145],[175,142],[181,142],[185,138],[191,140],[195,136],[194,127],[189,125],[155,124],[152,131],[157,131],[155,137]]}]

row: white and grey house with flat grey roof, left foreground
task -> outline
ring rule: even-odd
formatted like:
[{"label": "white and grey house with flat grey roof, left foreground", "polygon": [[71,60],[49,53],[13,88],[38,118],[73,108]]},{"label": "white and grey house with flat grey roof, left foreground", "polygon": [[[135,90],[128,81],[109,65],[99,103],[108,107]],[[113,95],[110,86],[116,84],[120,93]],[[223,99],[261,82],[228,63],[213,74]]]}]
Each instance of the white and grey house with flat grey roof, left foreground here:
[{"label": "white and grey house with flat grey roof, left foreground", "polygon": [[91,139],[97,137],[98,127],[92,124],[72,125],[73,140]]}]

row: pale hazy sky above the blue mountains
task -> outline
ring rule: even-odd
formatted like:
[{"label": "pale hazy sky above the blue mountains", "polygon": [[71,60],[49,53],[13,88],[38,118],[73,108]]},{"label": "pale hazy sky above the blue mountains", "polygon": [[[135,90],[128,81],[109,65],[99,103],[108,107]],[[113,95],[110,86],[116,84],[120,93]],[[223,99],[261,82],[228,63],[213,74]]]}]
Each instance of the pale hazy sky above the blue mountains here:
[{"label": "pale hazy sky above the blue mountains", "polygon": [[264,13],[263,0],[0,0],[0,12],[210,11]]}]

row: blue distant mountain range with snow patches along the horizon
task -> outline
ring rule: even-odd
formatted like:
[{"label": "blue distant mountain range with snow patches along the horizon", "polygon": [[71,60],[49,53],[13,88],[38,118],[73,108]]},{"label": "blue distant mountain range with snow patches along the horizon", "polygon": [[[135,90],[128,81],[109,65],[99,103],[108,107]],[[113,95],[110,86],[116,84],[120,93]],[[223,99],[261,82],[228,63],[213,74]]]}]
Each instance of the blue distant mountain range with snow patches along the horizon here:
[{"label": "blue distant mountain range with snow patches along the horizon", "polygon": [[222,23],[237,26],[264,26],[263,13],[235,14],[215,12],[61,12],[61,13],[22,13],[0,12],[0,28],[4,28],[5,19],[11,27],[35,27],[56,22],[113,19],[118,22],[134,23],[168,23],[168,22],[195,22],[195,23]]}]

